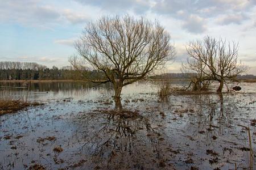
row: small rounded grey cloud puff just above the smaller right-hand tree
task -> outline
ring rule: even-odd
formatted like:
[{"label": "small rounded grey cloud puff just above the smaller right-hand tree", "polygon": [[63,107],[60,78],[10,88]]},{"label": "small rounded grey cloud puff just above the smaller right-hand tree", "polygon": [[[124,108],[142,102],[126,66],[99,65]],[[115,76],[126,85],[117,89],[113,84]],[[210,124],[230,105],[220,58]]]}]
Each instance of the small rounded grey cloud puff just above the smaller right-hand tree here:
[{"label": "small rounded grey cloud puff just above the smaller right-hand tree", "polygon": [[183,28],[188,32],[202,33],[207,31],[207,25],[205,19],[198,15],[190,15],[189,18],[184,22]]}]

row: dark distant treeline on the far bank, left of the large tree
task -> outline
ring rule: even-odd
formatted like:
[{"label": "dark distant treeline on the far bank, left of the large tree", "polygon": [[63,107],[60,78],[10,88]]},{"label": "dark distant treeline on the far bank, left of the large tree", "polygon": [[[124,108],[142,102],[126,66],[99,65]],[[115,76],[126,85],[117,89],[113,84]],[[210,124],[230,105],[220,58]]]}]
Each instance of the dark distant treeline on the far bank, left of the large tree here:
[{"label": "dark distant treeline on the far bank, left of the large tree", "polygon": [[100,78],[100,71],[84,70],[83,73],[71,66],[51,69],[35,62],[0,62],[0,80],[51,80],[51,79],[82,79]]}]

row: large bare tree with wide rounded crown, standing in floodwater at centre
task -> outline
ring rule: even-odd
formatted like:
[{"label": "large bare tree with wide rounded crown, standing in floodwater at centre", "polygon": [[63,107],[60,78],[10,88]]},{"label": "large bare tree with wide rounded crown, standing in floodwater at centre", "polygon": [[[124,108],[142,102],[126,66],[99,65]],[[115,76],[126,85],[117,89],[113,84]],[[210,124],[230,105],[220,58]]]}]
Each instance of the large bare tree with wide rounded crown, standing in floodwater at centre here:
[{"label": "large bare tree with wide rounded crown, standing in floodwater at centre", "polygon": [[161,69],[175,52],[170,35],[159,23],[130,16],[89,23],[75,48],[94,69],[104,72],[102,82],[113,83],[116,104],[121,104],[123,86]]}]

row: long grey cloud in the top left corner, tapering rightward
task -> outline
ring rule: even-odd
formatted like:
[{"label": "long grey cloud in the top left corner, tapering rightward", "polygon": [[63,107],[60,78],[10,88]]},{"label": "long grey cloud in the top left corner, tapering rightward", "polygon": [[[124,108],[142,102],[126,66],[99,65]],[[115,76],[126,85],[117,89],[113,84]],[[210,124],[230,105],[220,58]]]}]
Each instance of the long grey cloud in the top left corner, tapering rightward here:
[{"label": "long grey cloud in the top left corner, tapering rightward", "polygon": [[65,21],[78,24],[88,20],[87,16],[77,12],[58,10],[39,2],[41,1],[1,1],[0,22],[18,22],[24,25],[51,27],[51,25],[61,24]]}]

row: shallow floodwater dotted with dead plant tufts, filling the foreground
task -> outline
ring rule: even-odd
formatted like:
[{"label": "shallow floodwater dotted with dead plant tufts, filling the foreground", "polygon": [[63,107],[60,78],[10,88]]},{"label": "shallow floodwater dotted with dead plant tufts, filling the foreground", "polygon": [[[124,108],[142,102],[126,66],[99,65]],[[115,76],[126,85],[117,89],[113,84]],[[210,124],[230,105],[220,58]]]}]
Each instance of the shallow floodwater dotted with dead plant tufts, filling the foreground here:
[{"label": "shallow floodwater dotted with dead plant tufts, filling the foreground", "polygon": [[[1,85],[16,97],[27,93]],[[34,84],[28,99],[44,105],[0,117],[0,169],[249,169],[243,126],[255,169],[256,83],[240,85],[159,99],[151,84],[135,83],[117,113],[109,85]]]}]

